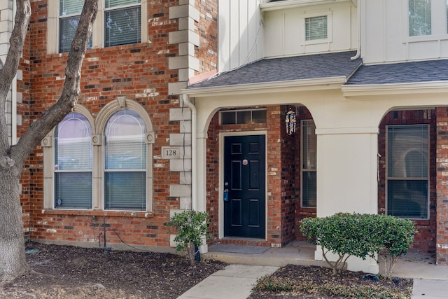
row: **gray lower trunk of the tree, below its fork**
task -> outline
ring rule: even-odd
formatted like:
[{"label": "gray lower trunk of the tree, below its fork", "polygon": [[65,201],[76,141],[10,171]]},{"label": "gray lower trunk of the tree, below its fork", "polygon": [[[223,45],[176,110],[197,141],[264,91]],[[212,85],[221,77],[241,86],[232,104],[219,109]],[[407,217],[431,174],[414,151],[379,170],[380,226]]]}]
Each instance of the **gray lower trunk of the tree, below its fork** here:
[{"label": "gray lower trunk of the tree, below its fork", "polygon": [[17,167],[0,168],[0,281],[12,280],[29,271],[25,257],[19,179]]}]

